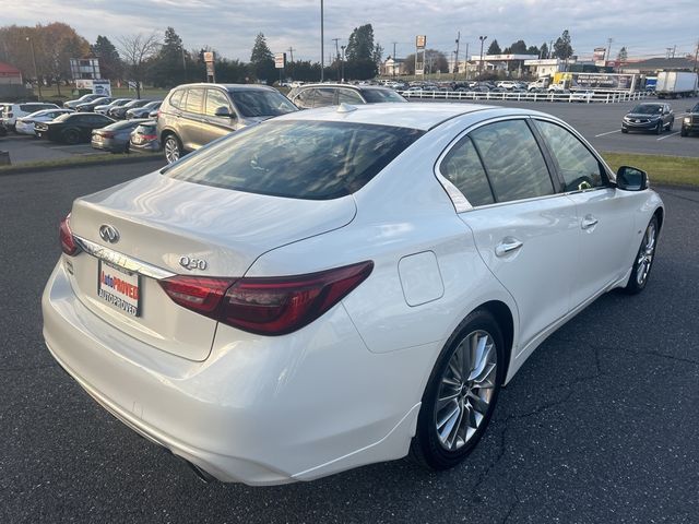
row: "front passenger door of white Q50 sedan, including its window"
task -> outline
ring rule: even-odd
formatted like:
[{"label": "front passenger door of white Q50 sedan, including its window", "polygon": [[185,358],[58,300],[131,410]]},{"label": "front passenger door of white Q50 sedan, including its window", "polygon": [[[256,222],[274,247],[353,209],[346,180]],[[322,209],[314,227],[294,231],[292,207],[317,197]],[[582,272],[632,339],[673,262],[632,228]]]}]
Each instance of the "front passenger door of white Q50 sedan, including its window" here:
[{"label": "front passenger door of white Q50 sedan, including its window", "polygon": [[619,191],[611,182],[604,164],[576,135],[559,122],[535,119],[546,148],[555,164],[567,196],[578,209],[580,245],[571,300],[576,307],[631,267],[629,255],[633,235],[633,210],[639,195]]}]

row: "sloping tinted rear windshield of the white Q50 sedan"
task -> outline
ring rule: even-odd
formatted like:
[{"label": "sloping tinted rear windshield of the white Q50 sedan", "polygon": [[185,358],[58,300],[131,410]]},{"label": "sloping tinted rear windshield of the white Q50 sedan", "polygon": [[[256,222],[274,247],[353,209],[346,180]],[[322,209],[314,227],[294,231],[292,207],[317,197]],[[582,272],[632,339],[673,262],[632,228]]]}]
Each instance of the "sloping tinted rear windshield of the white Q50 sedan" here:
[{"label": "sloping tinted rear windshield of the white Q50 sedan", "polygon": [[423,133],[350,122],[270,121],[163,172],[249,193],[330,200],[358,191]]}]

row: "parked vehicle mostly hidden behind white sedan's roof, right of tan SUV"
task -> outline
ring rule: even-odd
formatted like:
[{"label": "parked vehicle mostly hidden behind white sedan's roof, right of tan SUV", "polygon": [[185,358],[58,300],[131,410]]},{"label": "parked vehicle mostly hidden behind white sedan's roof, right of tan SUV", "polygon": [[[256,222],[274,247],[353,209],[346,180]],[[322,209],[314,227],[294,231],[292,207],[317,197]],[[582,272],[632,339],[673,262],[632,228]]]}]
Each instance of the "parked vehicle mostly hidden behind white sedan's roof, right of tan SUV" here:
[{"label": "parked vehicle mostly hidden behind white sedan's roof, right of tan SUV", "polygon": [[[412,88],[408,91],[412,91]],[[288,98],[301,109],[336,106],[339,104],[407,102],[390,87],[350,84],[306,84],[292,90]]]}]

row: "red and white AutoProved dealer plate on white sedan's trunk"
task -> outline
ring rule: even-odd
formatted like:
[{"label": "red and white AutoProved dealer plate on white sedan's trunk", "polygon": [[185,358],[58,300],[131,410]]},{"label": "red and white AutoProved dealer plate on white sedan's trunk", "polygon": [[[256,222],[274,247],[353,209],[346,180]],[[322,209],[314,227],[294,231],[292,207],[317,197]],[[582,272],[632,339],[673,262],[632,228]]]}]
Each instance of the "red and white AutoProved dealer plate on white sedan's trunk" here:
[{"label": "red and white AutoProved dealer plate on white sedan's trunk", "polygon": [[104,260],[97,264],[97,296],[131,317],[141,314],[141,276]]}]

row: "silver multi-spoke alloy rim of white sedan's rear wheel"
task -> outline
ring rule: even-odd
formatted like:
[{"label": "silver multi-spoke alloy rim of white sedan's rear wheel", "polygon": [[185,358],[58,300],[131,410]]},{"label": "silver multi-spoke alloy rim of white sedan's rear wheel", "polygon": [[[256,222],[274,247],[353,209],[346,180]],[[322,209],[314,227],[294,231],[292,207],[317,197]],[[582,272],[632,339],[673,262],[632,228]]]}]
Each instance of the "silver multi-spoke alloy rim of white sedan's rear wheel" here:
[{"label": "silver multi-spoke alloy rim of white sedan's rear wheel", "polygon": [[445,450],[459,450],[475,434],[488,412],[496,380],[493,336],[474,331],[454,349],[439,384],[434,419]]}]

